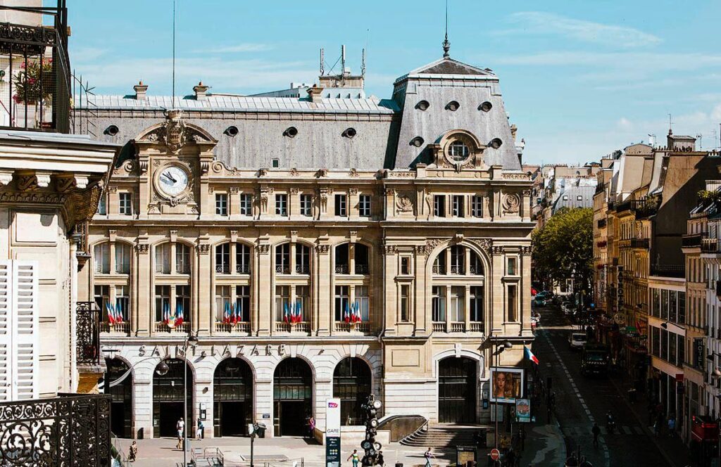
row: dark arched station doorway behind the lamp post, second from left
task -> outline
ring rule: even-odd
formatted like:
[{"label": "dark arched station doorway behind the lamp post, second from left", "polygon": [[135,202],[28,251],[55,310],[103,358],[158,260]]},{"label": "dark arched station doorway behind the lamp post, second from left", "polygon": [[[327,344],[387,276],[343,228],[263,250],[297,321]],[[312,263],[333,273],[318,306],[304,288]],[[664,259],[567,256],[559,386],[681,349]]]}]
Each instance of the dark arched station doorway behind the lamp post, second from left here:
[{"label": "dark arched station doorway behind the lamp post, second from left", "polygon": [[155,437],[176,437],[175,424],[183,417],[183,396],[186,396],[187,384],[187,414],[185,414],[185,429],[190,437],[193,433],[193,371],[187,367],[187,379],[183,383],[185,360],[169,358],[164,360],[168,365],[168,372],[159,375],[153,372],[153,434]]}]

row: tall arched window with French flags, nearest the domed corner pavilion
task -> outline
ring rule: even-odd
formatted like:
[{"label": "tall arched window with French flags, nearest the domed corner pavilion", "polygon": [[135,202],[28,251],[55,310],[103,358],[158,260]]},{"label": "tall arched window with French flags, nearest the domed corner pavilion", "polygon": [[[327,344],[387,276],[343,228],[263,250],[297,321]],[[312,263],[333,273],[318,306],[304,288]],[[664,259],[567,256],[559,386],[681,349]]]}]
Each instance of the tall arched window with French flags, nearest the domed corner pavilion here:
[{"label": "tall arched window with French flags, nearest the domed corner pavilion", "polygon": [[371,265],[368,246],[343,243],[333,252],[333,320],[337,332],[371,332]]}]

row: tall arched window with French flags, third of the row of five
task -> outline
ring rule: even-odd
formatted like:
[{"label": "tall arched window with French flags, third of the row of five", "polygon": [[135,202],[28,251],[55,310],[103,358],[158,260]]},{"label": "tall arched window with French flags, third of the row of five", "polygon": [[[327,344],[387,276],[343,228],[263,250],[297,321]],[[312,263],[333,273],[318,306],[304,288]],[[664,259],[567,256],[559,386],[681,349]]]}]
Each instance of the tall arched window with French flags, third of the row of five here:
[{"label": "tall arched window with French flags, third of the row of five", "polygon": [[250,332],[250,252],[240,242],[216,245],[216,332]]}]

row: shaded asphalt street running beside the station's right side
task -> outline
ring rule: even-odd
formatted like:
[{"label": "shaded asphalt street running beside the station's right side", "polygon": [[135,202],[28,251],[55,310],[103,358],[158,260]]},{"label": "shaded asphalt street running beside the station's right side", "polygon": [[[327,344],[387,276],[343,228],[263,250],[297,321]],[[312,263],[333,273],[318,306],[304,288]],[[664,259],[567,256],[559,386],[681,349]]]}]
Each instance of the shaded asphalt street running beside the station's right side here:
[{"label": "shaded asphalt street running beside the station's right side", "polygon": [[[570,320],[557,306],[538,308],[541,325],[536,332],[534,349],[540,360],[544,383],[553,378],[552,392],[556,396],[555,412],[568,452],[577,452],[593,466],[685,466],[686,448],[676,437],[655,437],[645,413],[647,402],[639,398],[634,407],[629,402],[622,372],[608,376],[584,376],[580,373],[580,351],[571,350],[568,333]],[[636,409],[636,413],[634,410]],[[616,422],[613,435],[606,432],[606,413]],[[546,417],[543,412],[541,417]],[[593,422],[601,427],[598,448],[593,447]],[[683,452],[678,452],[679,450]],[[671,453],[668,451],[671,450]]]}]

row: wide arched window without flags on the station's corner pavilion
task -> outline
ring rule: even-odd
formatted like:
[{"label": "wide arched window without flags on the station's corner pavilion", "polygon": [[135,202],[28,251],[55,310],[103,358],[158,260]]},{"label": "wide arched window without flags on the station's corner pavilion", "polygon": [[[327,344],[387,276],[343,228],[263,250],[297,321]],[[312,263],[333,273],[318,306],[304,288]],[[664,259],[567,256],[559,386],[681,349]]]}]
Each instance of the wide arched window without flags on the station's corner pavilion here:
[{"label": "wide arched window without flags on the station's corner pavilion", "polygon": [[435,332],[483,332],[485,268],[465,245],[443,249],[431,269],[431,319]]}]

